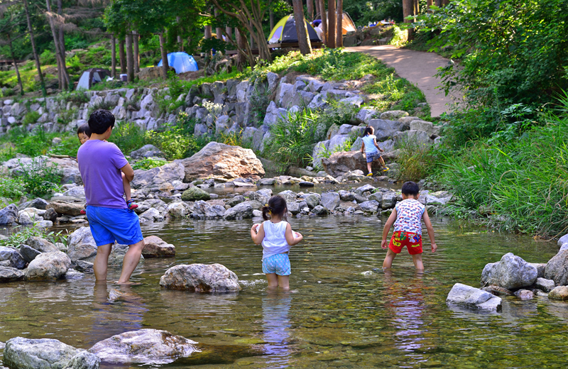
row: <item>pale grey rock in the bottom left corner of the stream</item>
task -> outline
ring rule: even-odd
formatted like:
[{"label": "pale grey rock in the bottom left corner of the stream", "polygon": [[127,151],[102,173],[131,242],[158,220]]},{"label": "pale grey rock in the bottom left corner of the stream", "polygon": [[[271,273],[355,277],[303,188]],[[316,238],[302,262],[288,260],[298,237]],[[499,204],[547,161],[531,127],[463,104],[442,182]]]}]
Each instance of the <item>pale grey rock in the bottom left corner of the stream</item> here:
[{"label": "pale grey rock in the bottom left corner of the stream", "polygon": [[93,353],[49,338],[16,337],[4,348],[4,364],[12,369],[97,369],[100,361]]}]

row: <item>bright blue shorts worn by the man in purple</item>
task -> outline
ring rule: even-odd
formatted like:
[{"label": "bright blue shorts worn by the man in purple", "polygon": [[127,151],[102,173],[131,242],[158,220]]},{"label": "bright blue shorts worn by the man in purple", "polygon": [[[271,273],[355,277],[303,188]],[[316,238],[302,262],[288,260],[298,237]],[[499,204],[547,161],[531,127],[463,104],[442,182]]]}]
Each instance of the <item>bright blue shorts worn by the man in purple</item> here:
[{"label": "bright blue shorts worn by the man in purple", "polygon": [[133,245],[144,239],[138,215],[129,209],[87,205],[87,219],[97,247],[114,241]]}]

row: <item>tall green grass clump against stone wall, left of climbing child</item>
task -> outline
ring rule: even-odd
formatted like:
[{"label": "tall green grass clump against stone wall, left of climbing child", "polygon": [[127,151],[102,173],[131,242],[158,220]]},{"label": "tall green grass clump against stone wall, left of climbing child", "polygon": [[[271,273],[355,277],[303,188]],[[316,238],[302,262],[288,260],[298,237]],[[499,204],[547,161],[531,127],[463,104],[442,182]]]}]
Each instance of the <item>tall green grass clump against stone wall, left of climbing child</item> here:
[{"label": "tall green grass clump against stone wall, left of climbing child", "polygon": [[271,141],[265,148],[268,158],[280,165],[281,170],[290,166],[305,167],[315,143],[322,141],[330,123],[320,123],[317,113],[309,109],[288,112],[271,127]]}]

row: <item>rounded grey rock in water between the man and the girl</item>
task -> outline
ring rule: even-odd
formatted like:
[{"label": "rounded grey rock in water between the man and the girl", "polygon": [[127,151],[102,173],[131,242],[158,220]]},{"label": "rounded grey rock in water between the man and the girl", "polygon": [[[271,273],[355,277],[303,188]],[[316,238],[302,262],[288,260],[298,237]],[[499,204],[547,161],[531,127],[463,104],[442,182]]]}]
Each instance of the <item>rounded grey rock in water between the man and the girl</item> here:
[{"label": "rounded grey rock in water between the man and the girl", "polygon": [[160,286],[169,290],[192,292],[240,291],[239,278],[221,264],[175,265],[160,278]]}]

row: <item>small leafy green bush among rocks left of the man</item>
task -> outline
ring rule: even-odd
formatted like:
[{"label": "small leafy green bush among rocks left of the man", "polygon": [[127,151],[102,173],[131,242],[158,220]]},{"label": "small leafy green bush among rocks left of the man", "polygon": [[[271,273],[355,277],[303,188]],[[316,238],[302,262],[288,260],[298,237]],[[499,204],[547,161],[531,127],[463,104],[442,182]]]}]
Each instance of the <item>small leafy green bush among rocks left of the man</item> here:
[{"label": "small leafy green bush among rocks left of the man", "polygon": [[42,197],[59,189],[62,172],[57,164],[47,165],[44,160],[33,159],[30,164],[21,164],[18,179],[28,194]]}]

